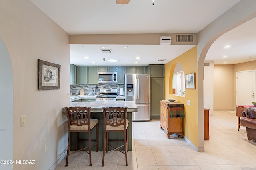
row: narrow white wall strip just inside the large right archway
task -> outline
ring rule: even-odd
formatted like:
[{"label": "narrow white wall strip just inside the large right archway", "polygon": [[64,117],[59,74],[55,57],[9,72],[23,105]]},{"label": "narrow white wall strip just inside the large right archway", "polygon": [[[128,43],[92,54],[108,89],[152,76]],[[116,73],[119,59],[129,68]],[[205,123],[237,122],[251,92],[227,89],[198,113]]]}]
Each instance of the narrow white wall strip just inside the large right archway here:
[{"label": "narrow white wall strip just inside the large right archway", "polygon": [[210,109],[209,115],[213,115],[213,87],[214,87],[214,74],[213,74],[213,61],[204,61],[209,63],[209,66],[204,66],[204,108]]}]

